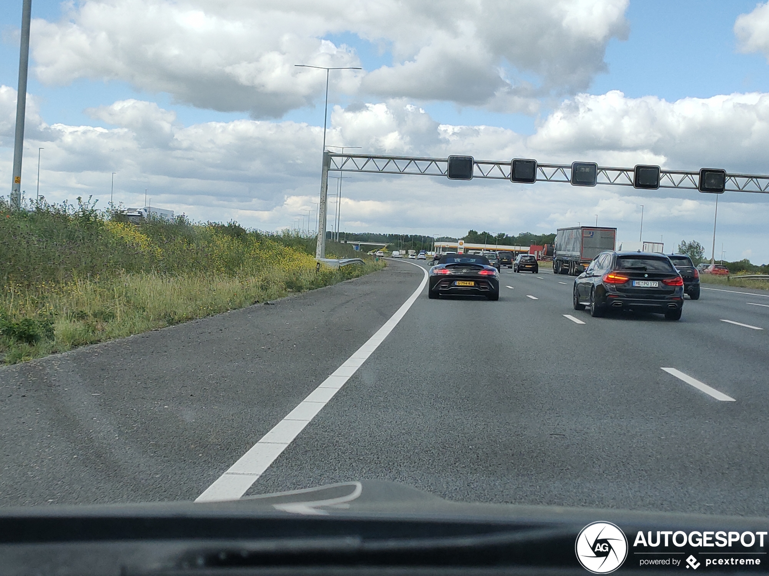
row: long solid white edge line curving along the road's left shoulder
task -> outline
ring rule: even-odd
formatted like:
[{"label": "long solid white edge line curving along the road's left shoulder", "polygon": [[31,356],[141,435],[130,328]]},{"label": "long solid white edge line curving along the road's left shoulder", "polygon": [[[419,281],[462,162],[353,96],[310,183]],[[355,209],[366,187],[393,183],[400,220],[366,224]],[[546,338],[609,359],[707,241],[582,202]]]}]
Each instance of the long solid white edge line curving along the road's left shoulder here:
[{"label": "long solid white edge line curving along the road's left shoulder", "polygon": [[417,266],[424,273],[424,278],[422,278],[414,293],[408,297],[408,300],[401,304],[401,307],[390,316],[388,321],[377,330],[374,336],[371,336],[363,346],[345,360],[331,376],[328,376],[304,400],[299,402],[298,406],[291,410],[267,434],[262,436],[259,442],[251,446],[251,449],[238,458],[238,461],[231,465],[224,474],[219,476],[213,484],[208,486],[205,492],[199,495],[198,498],[195,498],[195,502],[224,502],[227,500],[237,500],[244,495],[248,488],[251,488],[251,485],[257,481],[259,476],[264,474],[265,470],[270,467],[272,462],[275,462],[275,458],[278,458],[288,448],[288,445],[305,429],[305,426],[315,418],[315,415],[345,385],[350,376],[355,374],[355,371],[387,338],[392,329],[398,326],[398,323],[428,283],[428,271],[417,263],[408,263]]}]

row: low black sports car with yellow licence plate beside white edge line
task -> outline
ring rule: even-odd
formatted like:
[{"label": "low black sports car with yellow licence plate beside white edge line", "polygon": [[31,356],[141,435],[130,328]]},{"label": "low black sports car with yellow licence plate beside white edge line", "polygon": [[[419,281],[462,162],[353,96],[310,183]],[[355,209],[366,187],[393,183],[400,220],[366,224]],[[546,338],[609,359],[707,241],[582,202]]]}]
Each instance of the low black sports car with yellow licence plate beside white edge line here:
[{"label": "low black sports car with yellow licence plate beside white edge line", "polygon": [[499,300],[499,273],[480,254],[444,254],[430,269],[428,297],[441,294]]}]

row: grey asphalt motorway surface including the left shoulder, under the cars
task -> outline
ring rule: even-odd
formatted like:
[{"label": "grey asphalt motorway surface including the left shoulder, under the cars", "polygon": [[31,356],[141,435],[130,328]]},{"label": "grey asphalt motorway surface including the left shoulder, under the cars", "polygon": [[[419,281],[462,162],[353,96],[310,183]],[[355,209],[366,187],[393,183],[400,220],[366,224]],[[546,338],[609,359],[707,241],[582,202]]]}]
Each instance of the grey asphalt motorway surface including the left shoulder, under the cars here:
[{"label": "grey asphalt motorway surface including the left shoulder, under the cars", "polygon": [[[0,369],[0,505],[198,498],[424,267]],[[591,318],[572,282],[503,270],[498,302],[421,290],[246,493],[384,479],[471,502],[769,515],[769,293],[704,285],[679,322]]]}]

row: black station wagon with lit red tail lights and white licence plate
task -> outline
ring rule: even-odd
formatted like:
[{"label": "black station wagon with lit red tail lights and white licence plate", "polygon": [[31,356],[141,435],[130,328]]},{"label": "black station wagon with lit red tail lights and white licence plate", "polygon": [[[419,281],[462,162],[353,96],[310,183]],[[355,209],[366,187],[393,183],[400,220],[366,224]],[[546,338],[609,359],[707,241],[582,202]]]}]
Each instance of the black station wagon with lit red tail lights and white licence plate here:
[{"label": "black station wagon with lit red tail lights and white licence plate", "polygon": [[607,310],[662,313],[681,318],[684,279],[663,254],[602,252],[574,279],[574,310],[590,306],[591,316]]}]

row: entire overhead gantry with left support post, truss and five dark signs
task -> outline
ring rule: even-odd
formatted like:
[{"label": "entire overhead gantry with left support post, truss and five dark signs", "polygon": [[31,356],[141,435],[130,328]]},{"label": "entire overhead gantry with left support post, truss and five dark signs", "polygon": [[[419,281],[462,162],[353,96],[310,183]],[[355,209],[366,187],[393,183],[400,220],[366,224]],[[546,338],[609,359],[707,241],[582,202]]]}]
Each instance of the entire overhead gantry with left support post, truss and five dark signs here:
[{"label": "entire overhead gantry with left support post, truss and five dark signs", "polygon": [[328,172],[368,174],[418,174],[442,176],[450,180],[510,180],[516,184],[560,182],[572,186],[628,186],[638,190],[677,188],[699,190],[709,194],[753,192],[769,194],[769,175],[727,174],[719,168],[701,170],[662,170],[659,166],[639,164],[632,168],[598,166],[593,162],[572,164],[539,164],[536,160],[514,158],[511,161],[475,160],[471,156],[427,158],[382,156],[376,154],[339,154],[324,152],[321,170],[320,222],[315,256],[326,252],[326,197]]}]

